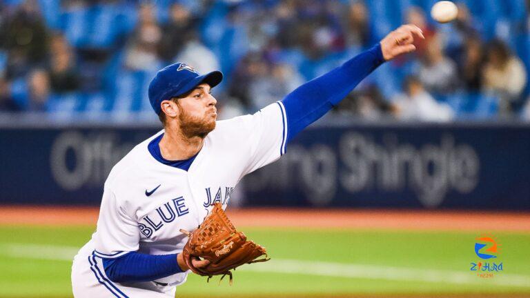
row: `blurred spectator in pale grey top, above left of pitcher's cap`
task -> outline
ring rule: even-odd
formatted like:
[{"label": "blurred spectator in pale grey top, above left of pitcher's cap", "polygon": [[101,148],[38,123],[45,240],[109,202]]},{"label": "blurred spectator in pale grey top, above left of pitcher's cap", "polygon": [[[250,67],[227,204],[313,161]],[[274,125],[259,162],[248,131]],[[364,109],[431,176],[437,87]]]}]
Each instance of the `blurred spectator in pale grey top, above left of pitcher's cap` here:
[{"label": "blurred spectator in pale grey top, above left of pitcher's cap", "polygon": [[143,4],[139,9],[139,24],[126,48],[125,65],[131,70],[158,68],[161,29],[155,20],[152,4]]}]

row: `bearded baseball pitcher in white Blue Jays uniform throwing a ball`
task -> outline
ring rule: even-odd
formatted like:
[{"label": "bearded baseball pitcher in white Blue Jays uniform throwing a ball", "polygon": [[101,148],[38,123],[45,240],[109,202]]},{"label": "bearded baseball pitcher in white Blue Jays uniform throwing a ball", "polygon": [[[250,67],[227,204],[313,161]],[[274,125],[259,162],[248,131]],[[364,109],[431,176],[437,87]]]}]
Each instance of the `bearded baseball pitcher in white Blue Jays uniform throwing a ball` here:
[{"label": "bearded baseball pitcher in white Blue Jays uniform throwing a ball", "polygon": [[[384,61],[414,51],[415,38],[423,38],[420,28],[401,26],[282,101],[226,121],[216,121],[217,101],[211,95],[221,72],[198,74],[185,63],[159,70],[148,93],[164,129],[112,168],[97,230],[73,262],[74,296],[175,297],[189,272],[229,274],[230,268],[264,255],[223,215],[237,183],[279,159],[293,137]],[[232,238],[222,240],[215,253],[197,252],[219,235]]]}]

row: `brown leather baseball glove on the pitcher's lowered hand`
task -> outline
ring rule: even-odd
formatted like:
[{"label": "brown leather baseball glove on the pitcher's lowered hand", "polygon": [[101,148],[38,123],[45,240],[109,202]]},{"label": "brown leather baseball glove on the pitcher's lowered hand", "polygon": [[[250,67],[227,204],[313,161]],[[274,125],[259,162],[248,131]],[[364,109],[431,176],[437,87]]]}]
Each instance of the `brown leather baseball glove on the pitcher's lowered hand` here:
[{"label": "brown leather baseball glove on the pitcher's lowered hand", "polygon": [[[235,229],[221,203],[214,204],[212,211],[197,230],[192,233],[180,231],[189,237],[182,251],[186,265],[198,275],[207,276],[208,281],[214,275],[222,275],[221,280],[228,275],[231,285],[233,278],[230,270],[235,270],[243,264],[269,260],[263,246],[247,241],[243,232]],[[263,259],[257,259],[262,255],[265,255]],[[193,266],[192,259],[197,257],[210,261],[210,264],[202,268]]]}]

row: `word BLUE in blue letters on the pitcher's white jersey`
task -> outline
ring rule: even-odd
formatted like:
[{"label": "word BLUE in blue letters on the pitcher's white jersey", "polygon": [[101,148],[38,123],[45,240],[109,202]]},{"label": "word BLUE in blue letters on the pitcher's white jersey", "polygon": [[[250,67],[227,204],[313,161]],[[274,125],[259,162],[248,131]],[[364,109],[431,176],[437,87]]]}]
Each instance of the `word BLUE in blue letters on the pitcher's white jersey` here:
[{"label": "word BLUE in blue letters on the pitcher's white jersey", "polygon": [[[173,204],[171,202],[173,202]],[[150,238],[153,236],[154,232],[163,228],[164,223],[169,224],[177,219],[177,217],[187,215],[190,212],[189,208],[186,206],[184,197],[172,199],[155,210],[157,212],[151,212],[149,215],[146,215],[141,219],[145,224],[138,224],[140,232],[147,238]]]}]

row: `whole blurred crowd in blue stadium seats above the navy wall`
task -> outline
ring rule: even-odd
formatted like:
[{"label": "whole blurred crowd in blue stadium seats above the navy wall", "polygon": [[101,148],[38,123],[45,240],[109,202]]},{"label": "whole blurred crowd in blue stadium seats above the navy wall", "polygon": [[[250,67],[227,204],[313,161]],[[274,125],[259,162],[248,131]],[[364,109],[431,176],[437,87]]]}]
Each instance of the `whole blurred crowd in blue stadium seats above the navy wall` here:
[{"label": "whole blurred crowd in blue stadium seats above the navy wall", "polygon": [[[425,32],[336,115],[530,120],[530,0],[467,0],[434,23],[430,0],[10,0],[0,2],[0,112],[150,113],[156,71],[222,70],[223,117],[253,112],[373,46]],[[156,117],[153,115],[153,119]]]}]

